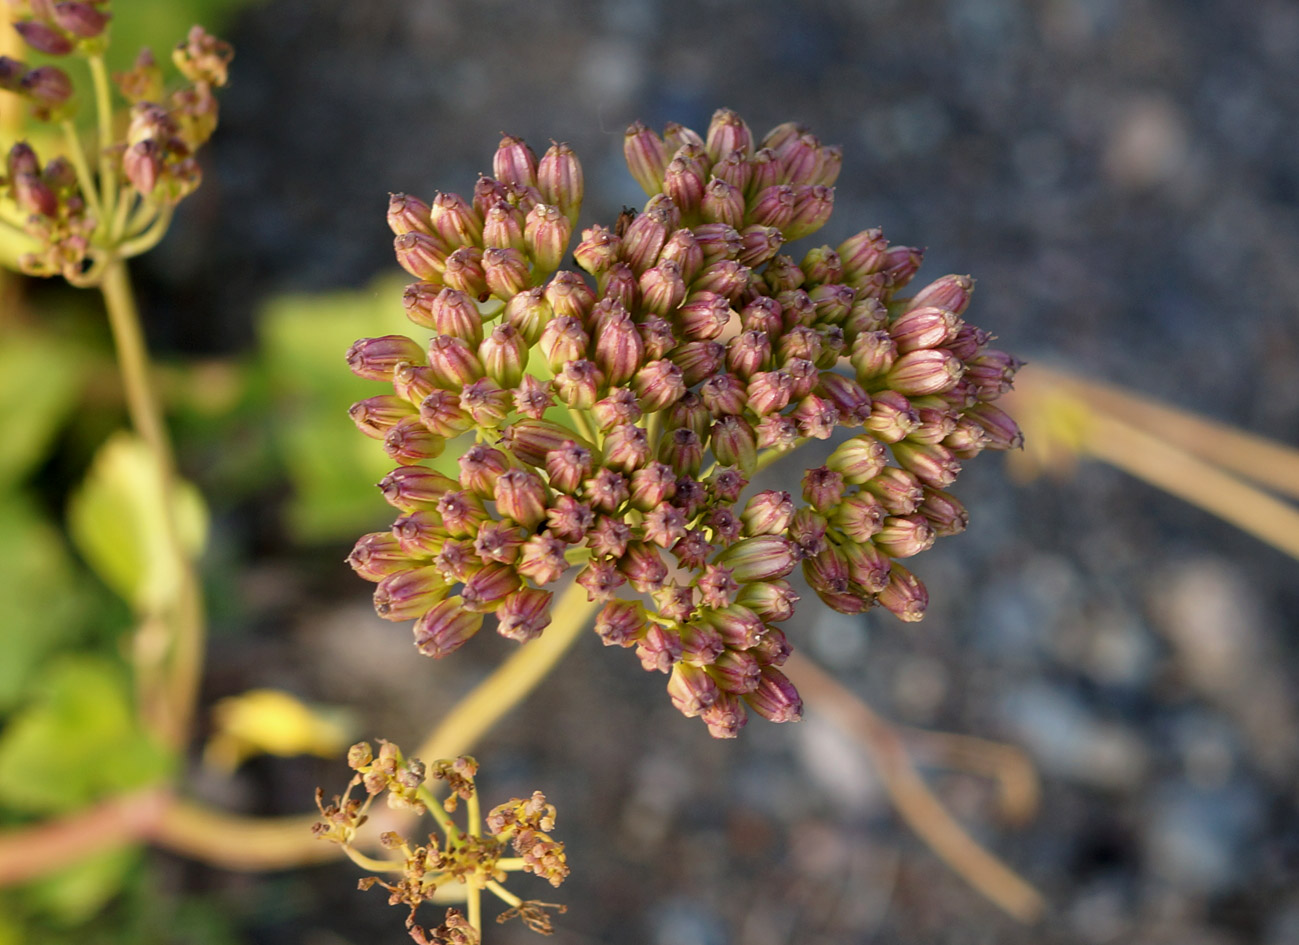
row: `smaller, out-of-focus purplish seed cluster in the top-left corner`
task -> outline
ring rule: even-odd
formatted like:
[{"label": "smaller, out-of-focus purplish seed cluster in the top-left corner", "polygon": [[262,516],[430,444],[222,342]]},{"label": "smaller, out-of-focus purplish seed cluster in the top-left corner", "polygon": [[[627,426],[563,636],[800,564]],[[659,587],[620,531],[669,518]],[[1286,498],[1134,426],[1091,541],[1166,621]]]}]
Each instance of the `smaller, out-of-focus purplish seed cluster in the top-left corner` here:
[{"label": "smaller, out-of-focus purplish seed cluster in the top-left corner", "polygon": [[214,90],[226,83],[234,52],[195,26],[171,52],[184,83],[169,91],[162,69],[143,49],[131,69],[113,77],[130,121],[109,140],[107,0],[9,0],[9,18],[34,52],[90,61],[100,140],[88,160],[71,123],[78,90],[62,66],[0,56],[0,90],[23,97],[38,121],[61,123],[70,144],[44,162],[26,142],[9,149],[0,168],[0,226],[19,231],[31,247],[17,259],[22,272],[88,285],[107,255],[127,257],[152,247],[166,230],[166,208],[199,186],[196,153],[216,130]]}]

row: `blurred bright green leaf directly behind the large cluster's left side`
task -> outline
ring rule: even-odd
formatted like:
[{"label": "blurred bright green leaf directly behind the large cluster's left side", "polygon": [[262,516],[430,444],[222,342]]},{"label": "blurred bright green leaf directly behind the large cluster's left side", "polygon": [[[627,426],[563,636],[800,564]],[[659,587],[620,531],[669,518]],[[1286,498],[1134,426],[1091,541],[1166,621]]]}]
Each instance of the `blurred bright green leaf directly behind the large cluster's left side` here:
[{"label": "blurred bright green leaf directly behind the large cluster's left side", "polygon": [[[382,394],[383,385],[353,376],[346,354],[357,338],[410,331],[401,285],[383,278],[360,291],[286,295],[262,312],[262,357],[278,404],[277,439],[294,487],[288,523],[301,541],[356,537],[391,517],[374,484],[394,463],[347,416],[351,404]],[[455,456],[439,461],[455,469]]]}]

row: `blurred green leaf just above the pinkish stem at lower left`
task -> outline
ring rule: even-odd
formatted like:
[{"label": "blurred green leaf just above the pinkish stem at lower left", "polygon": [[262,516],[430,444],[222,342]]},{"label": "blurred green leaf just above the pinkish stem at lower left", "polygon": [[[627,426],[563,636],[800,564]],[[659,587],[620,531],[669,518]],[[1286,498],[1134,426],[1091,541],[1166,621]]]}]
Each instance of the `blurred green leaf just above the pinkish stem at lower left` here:
[{"label": "blurred green leaf just above the pinkish stem at lower left", "polygon": [[135,725],[125,673],[101,656],[53,663],[0,734],[0,803],[52,814],[161,780],[170,755]]}]

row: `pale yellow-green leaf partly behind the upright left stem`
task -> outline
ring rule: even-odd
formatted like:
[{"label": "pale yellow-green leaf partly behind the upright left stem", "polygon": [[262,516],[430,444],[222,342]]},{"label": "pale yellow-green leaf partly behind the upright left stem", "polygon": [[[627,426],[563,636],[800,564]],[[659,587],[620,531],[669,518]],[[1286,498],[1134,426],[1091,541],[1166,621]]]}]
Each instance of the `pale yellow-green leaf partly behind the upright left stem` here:
[{"label": "pale yellow-green leaf partly behind the upright left stem", "polygon": [[[149,448],[138,437],[117,433],[100,447],[68,508],[78,550],[109,588],[143,614],[174,601],[179,588],[161,494],[162,477]],[[182,543],[196,555],[207,538],[208,513],[187,482],[177,484],[175,521]]]}]

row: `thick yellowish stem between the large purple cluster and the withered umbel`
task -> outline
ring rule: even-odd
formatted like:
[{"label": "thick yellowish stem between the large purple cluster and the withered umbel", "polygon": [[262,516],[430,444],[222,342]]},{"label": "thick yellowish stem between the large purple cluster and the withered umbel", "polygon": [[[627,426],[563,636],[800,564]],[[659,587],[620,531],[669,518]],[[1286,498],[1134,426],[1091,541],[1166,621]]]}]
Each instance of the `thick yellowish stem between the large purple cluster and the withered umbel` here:
[{"label": "thick yellowish stem between the large purple cluster and the withered umbel", "polygon": [[509,659],[470,690],[425,740],[417,757],[433,762],[468,751],[496,721],[517,706],[573,646],[595,614],[598,603],[586,589],[570,584],[551,610],[552,621],[536,640],[523,643]]}]

